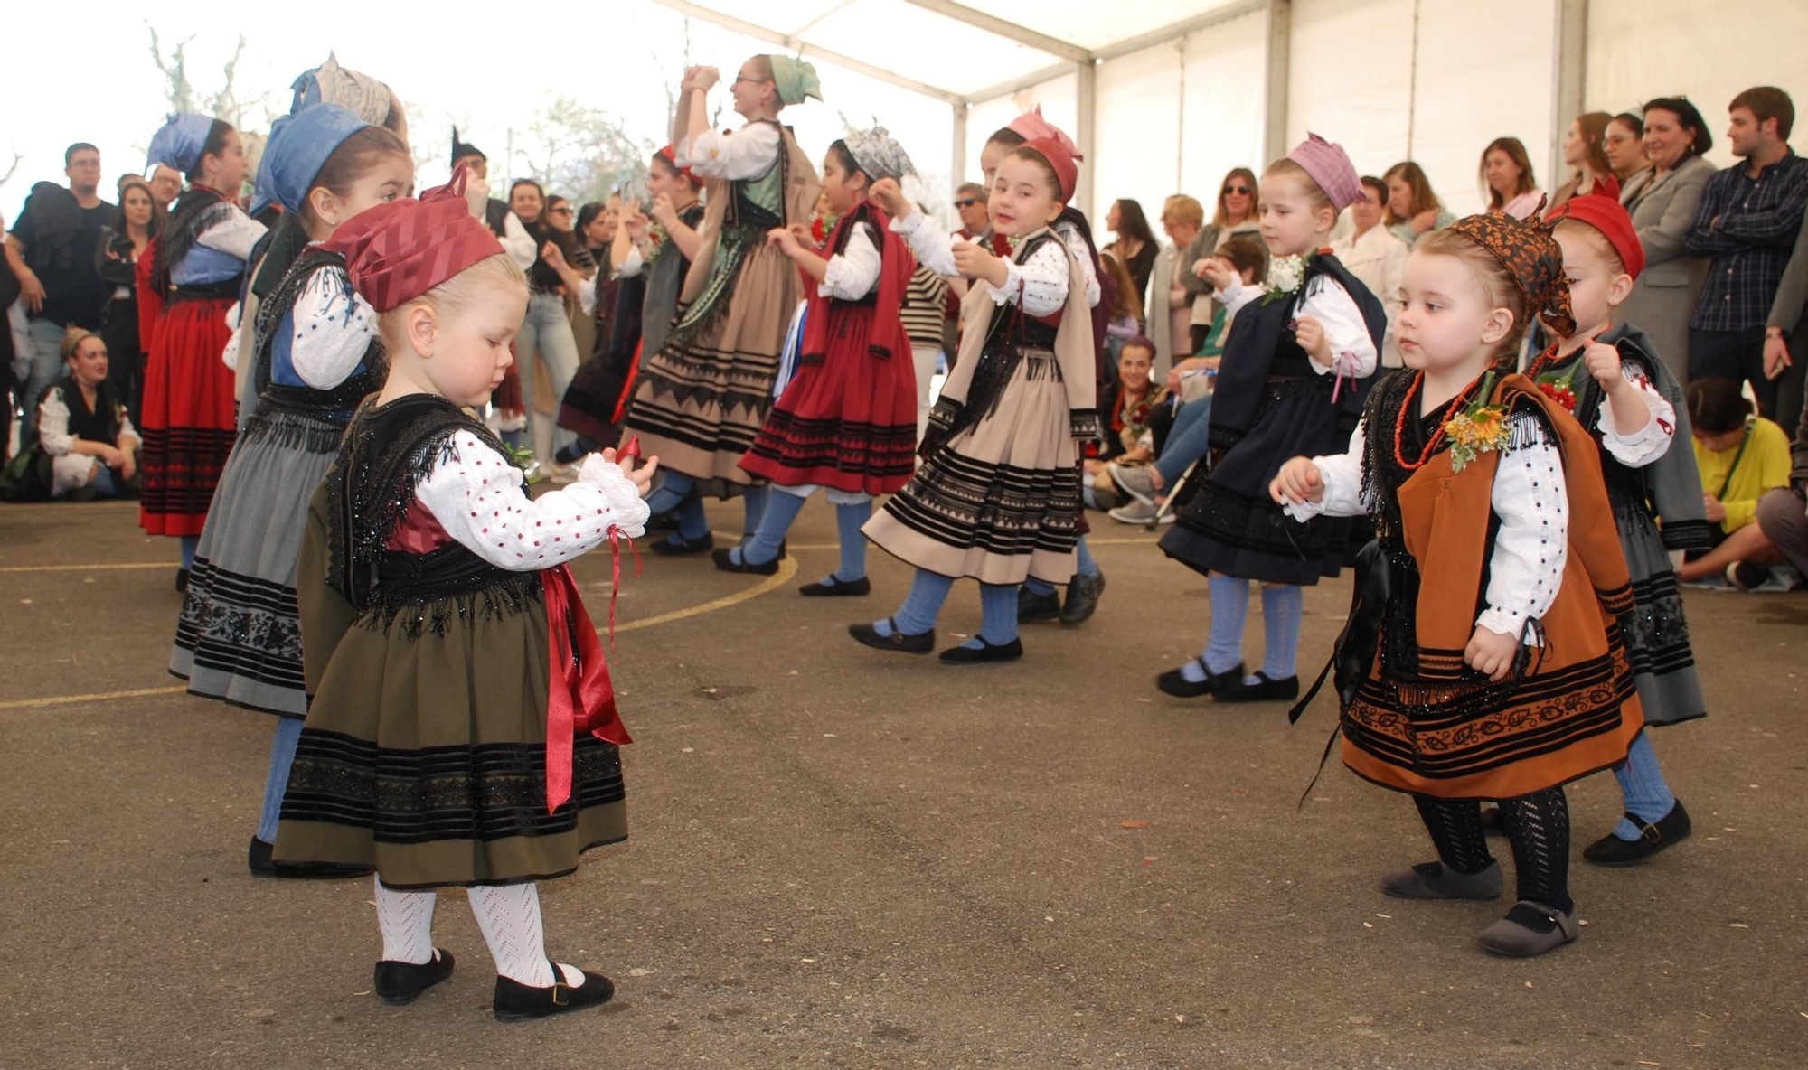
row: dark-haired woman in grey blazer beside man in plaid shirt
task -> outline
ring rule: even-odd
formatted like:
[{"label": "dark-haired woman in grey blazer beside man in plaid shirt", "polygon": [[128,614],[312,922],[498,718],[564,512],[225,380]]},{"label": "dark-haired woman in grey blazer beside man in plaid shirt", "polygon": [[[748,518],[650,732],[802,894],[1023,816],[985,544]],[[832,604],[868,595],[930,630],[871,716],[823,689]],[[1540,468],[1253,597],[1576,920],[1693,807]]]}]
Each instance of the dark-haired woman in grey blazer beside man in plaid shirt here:
[{"label": "dark-haired woman in grey blazer beside man in plaid shirt", "polygon": [[1716,170],[1701,159],[1712,145],[1701,112],[1687,99],[1658,98],[1647,103],[1645,154],[1651,166],[1627,179],[1620,192],[1620,204],[1633,213],[1633,228],[1645,246],[1645,271],[1616,318],[1651,338],[1678,383],[1689,381],[1689,318],[1707,273],[1707,260],[1683,255],[1683,235]]}]

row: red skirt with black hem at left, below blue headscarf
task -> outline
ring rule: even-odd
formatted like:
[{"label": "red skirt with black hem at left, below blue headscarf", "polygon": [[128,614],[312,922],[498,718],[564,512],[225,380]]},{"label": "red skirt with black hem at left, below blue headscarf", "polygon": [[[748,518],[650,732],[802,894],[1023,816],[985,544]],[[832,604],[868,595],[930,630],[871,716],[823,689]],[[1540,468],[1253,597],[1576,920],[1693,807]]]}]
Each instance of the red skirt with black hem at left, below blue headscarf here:
[{"label": "red skirt with black hem at left, below blue headscarf", "polygon": [[231,298],[177,300],[163,307],[145,363],[145,474],[137,522],[152,535],[201,535],[213,486],[237,437],[233,371],[221,354],[231,338]]}]

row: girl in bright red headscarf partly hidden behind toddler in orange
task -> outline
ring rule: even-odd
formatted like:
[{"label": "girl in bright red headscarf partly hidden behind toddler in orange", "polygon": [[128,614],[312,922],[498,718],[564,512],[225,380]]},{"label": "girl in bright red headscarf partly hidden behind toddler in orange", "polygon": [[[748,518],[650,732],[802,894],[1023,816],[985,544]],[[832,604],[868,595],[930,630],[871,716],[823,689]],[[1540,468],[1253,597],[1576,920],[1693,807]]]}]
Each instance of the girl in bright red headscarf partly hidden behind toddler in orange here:
[{"label": "girl in bright red headscarf partly hidden behind toddler in orange", "polygon": [[[1584,193],[1564,201],[1557,244],[1564,251],[1575,329],[1533,358],[1526,378],[1575,412],[1600,445],[1607,499],[1638,611],[1625,618],[1625,647],[1645,725],[1674,725],[1707,716],[1689,647],[1681,589],[1669,551],[1705,549],[1707,512],[1701,474],[1689,450],[1689,408],[1669,367],[1633,324],[1613,324],[1633,293],[1645,249],[1633,217],[1613,197]],[[1663,519],[1662,526],[1658,517]],[[1615,766],[1625,817],[1582,857],[1596,866],[1633,866],[1687,839],[1689,812],[1663,781],[1651,734],[1640,732]]]}]

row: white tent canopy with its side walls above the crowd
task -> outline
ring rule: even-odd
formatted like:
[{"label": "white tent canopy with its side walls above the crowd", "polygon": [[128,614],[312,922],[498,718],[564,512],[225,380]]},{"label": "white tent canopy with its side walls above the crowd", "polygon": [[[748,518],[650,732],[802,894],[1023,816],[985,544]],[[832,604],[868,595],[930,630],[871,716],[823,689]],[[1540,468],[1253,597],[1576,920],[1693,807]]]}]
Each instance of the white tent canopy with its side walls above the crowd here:
[{"label": "white tent canopy with its side walls above the crowd", "polygon": [[1526,143],[1549,190],[1586,110],[1687,94],[1719,141],[1737,90],[1808,85],[1797,0],[1038,0],[1014,20],[955,0],[654,2],[946,103],[955,181],[1041,105],[1087,155],[1076,202],[1096,219],[1117,197],[1150,215],[1177,190],[1210,204],[1229,168],[1307,130],[1361,172],[1419,161],[1463,213],[1497,136]]}]

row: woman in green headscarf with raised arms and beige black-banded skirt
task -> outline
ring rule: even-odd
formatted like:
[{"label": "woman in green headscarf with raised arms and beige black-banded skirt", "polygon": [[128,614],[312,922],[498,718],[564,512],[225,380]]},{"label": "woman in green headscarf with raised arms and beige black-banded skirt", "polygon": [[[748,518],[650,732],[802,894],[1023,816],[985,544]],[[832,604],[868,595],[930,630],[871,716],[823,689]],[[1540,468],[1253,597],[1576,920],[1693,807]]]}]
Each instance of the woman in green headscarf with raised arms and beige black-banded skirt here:
[{"label": "woman in green headscarf with raised arms and beige black-banded skirt", "polygon": [[759,528],[767,486],[739,466],[772,408],[772,381],[792,309],[801,296],[797,268],[767,240],[774,228],[810,219],[817,177],[779,112],[823,99],[810,63],[754,56],[729,87],[747,125],[734,134],[709,128],[705,110],[714,67],[685,72],[673,123],[680,166],[703,175],[705,240],[685,275],[682,311],[660,351],[645,349],[627,427],[658,454],[665,483],[654,513],[676,512],[678,531],[653,549],[705,553],[714,546],[698,483],[739,488],[745,531]]}]

